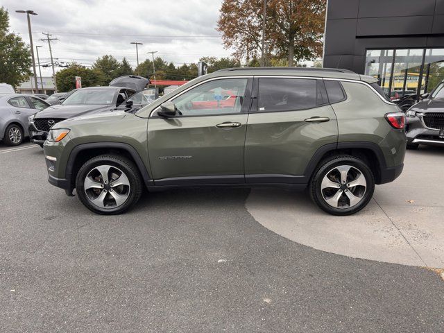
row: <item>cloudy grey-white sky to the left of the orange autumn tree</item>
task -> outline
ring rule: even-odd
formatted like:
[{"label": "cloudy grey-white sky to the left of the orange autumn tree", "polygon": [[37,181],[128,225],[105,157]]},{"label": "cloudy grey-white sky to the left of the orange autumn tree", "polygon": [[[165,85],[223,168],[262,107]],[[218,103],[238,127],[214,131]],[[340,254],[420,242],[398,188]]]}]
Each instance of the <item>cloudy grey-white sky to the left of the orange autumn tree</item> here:
[{"label": "cloudy grey-white sky to the left of the orange autumn tree", "polygon": [[[97,57],[112,54],[117,60],[126,57],[137,65],[135,45],[139,45],[139,62],[155,56],[174,62],[197,62],[202,56],[230,56],[216,31],[221,0],[1,0],[9,12],[10,31],[19,33],[29,43],[26,14],[15,10],[34,10],[31,16],[34,46],[40,63],[50,62],[48,42],[42,32],[49,32],[54,61],[78,62],[91,66]],[[36,63],[37,56],[35,55]],[[56,70],[62,67],[56,67]],[[51,69],[42,67],[42,76]],[[37,69],[38,75],[38,69]]]}]

